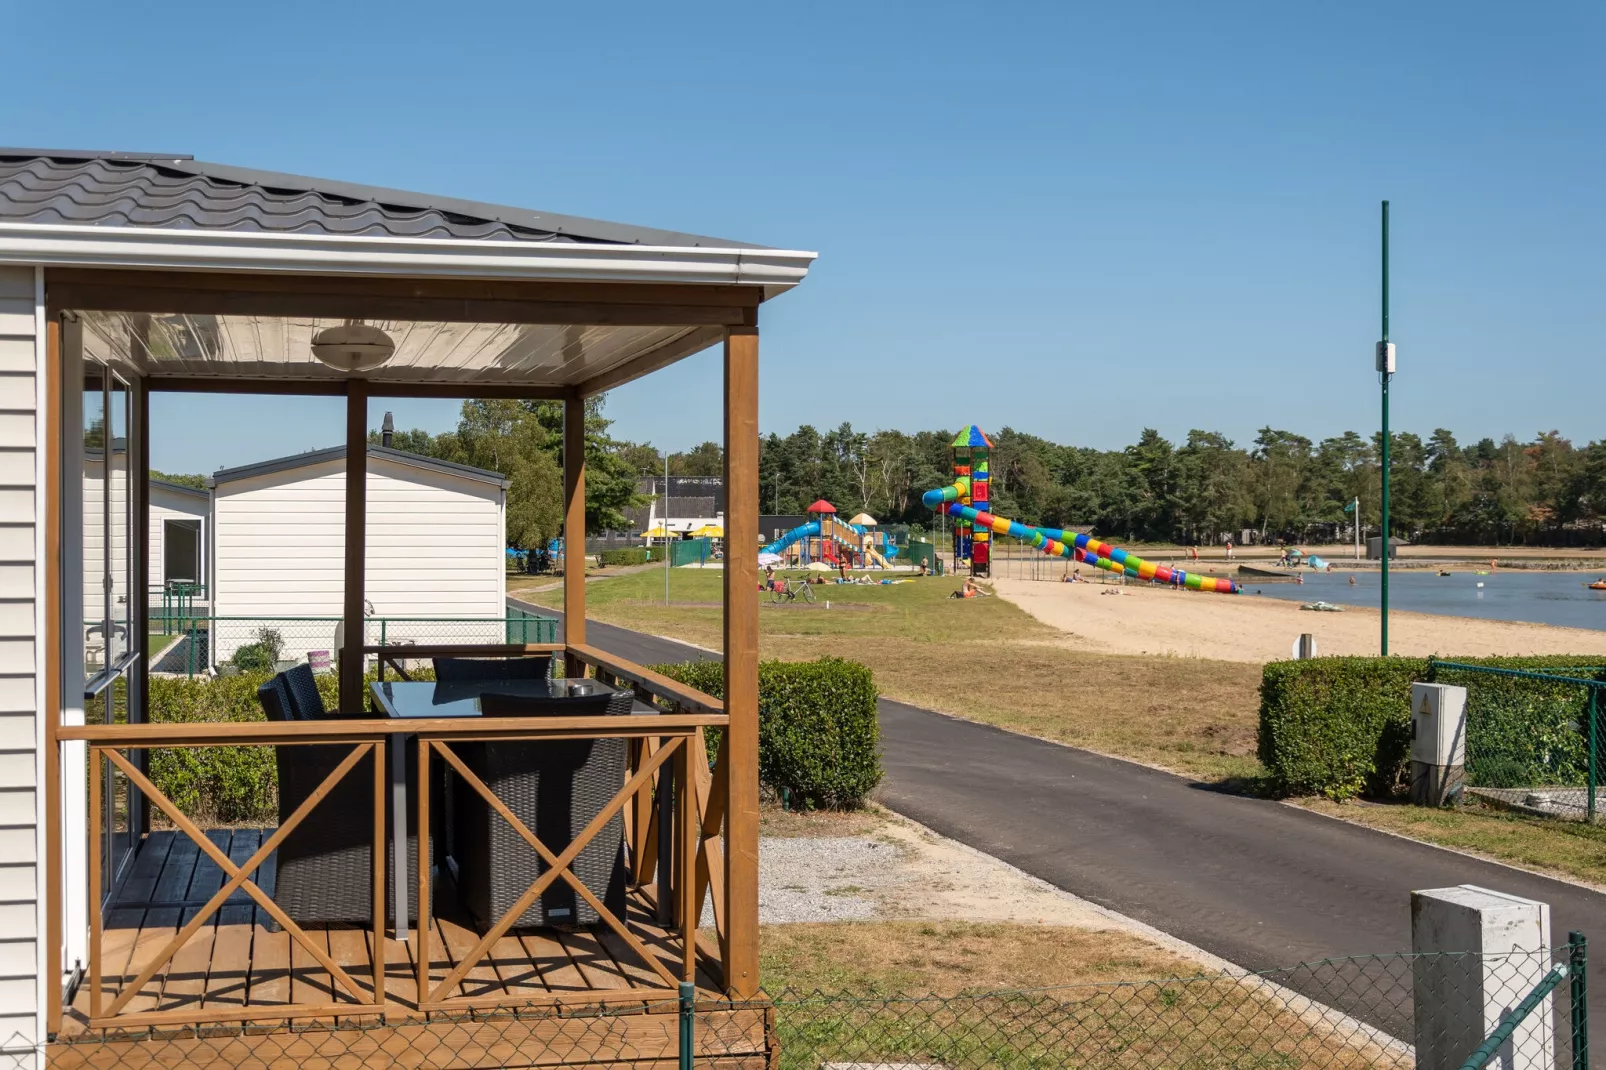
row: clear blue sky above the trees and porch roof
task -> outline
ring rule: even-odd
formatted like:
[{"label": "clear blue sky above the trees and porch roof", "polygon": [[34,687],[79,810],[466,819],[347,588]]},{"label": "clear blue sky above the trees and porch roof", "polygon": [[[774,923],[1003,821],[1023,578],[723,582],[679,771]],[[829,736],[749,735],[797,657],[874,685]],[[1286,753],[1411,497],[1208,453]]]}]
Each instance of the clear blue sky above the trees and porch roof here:
[{"label": "clear blue sky above the trees and porch roof", "polygon": [[[817,251],[764,310],[764,431],[1372,429],[1389,198],[1396,426],[1606,434],[1598,3],[5,6],[63,45],[8,51],[13,145]],[[164,402],[153,461],[339,437],[239,405]],[[609,410],[718,437],[718,355]]]}]

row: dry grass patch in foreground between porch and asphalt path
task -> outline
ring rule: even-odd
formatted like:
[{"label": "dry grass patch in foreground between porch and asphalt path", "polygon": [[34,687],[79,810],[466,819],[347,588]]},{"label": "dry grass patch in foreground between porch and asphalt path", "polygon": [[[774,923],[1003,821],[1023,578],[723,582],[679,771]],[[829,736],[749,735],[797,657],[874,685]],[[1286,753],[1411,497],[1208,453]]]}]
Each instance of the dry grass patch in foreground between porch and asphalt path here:
[{"label": "dry grass patch in foreground between porch and asphalt path", "polygon": [[766,925],[760,946],[785,1068],[1407,1065],[1127,933],[837,922]]}]

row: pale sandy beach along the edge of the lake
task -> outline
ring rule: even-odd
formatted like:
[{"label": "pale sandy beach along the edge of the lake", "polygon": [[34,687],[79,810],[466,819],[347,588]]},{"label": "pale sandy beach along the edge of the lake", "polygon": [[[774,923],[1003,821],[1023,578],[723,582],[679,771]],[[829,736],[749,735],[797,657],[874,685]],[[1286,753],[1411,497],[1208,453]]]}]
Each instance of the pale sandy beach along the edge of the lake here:
[{"label": "pale sandy beach along the edge of the lake", "polygon": [[[999,598],[1073,636],[1066,643],[1078,649],[1261,664],[1290,657],[1294,641],[1309,631],[1319,654],[1378,652],[1375,609],[1346,606],[1323,614],[1253,594],[1009,578],[991,583]],[[1606,631],[1391,611],[1389,652],[1606,655]]]}]

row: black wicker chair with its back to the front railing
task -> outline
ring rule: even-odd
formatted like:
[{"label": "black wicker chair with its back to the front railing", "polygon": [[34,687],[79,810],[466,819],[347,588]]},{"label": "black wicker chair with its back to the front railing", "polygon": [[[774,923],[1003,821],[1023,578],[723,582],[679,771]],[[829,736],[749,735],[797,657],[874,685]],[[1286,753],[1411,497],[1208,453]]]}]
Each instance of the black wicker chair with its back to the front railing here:
[{"label": "black wicker chair with its back to the front railing", "polygon": [[[628,691],[572,699],[528,699],[485,694],[487,717],[625,715]],[[601,813],[625,786],[623,739],[551,739],[461,744],[463,763],[554,853]],[[482,925],[512,909],[546,872],[546,863],[480,797],[458,786],[453,835],[458,892]],[[575,858],[573,874],[615,917],[625,916],[625,818],[615,813]],[[591,925],[599,919],[580,895],[557,880],[516,922],[517,927]]]}]

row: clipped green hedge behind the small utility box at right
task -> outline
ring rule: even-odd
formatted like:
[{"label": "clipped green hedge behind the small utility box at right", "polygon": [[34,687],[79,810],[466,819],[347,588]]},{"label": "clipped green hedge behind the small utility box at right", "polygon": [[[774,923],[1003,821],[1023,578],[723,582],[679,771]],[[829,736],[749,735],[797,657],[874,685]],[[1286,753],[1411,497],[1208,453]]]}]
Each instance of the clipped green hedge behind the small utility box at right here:
[{"label": "clipped green hedge behind the small utility box at right", "polygon": [[[1465,657],[1492,668],[1572,670],[1598,657]],[[1407,784],[1410,686],[1468,689],[1469,784],[1582,784],[1587,776],[1587,688],[1436,667],[1425,657],[1317,657],[1272,662],[1261,675],[1259,755],[1277,790],[1351,798]]]}]

